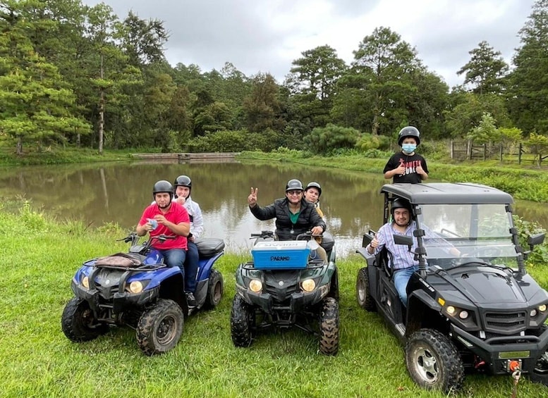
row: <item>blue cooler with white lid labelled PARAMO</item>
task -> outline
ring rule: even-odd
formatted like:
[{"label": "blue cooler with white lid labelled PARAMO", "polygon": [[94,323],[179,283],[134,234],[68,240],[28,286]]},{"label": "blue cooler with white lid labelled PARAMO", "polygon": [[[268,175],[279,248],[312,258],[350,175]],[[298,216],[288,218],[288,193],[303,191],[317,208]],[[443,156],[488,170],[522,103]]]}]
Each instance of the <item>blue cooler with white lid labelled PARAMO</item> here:
[{"label": "blue cooler with white lid labelled PARAMO", "polygon": [[310,248],[305,240],[268,240],[251,249],[255,268],[259,270],[306,268]]}]

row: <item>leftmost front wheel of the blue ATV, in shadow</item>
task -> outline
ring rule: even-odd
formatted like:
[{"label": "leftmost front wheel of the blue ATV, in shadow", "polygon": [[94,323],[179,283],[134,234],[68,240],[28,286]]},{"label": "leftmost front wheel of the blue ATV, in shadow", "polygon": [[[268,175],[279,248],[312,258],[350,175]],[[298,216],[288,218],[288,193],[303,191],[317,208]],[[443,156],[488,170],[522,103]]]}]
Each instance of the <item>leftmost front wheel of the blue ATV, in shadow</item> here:
[{"label": "leftmost front wheel of the blue ATV, in shadow", "polygon": [[73,297],[66,304],[61,316],[61,328],[72,342],[87,342],[109,331],[109,325],[97,323],[90,304],[78,297]]}]

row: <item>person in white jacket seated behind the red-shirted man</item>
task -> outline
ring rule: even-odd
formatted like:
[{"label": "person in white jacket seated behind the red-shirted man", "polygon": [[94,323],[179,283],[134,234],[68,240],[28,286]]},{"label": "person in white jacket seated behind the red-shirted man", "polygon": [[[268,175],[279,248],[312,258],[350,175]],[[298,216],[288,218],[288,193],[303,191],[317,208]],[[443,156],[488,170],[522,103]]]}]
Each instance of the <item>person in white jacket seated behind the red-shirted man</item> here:
[{"label": "person in white jacket seated behind the red-shirted man", "polygon": [[190,233],[187,238],[187,251],[185,259],[185,292],[186,301],[188,306],[196,306],[196,299],[194,292],[196,290],[196,278],[199,267],[200,256],[198,254],[198,247],[195,244],[195,240],[204,232],[204,219],[202,218],[202,209],[196,201],[190,197],[192,192],[192,180],[188,175],[179,175],[175,182],[173,182],[175,189],[173,201],[181,204],[190,217]]}]

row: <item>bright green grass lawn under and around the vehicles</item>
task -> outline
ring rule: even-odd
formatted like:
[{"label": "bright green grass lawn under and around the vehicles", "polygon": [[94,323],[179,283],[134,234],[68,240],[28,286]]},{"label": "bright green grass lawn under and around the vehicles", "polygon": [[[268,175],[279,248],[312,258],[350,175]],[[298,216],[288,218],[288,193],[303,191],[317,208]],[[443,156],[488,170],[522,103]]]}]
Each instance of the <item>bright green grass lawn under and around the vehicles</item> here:
[{"label": "bright green grass lawn under and around the vehicles", "polygon": [[[444,397],[409,378],[403,349],[376,313],[355,301],[358,256],[339,261],[341,347],[317,352],[314,336],[300,330],[264,333],[247,349],[230,335],[234,271],[241,254],[217,262],[225,294],[212,311],[185,321],[175,349],[147,357],[135,332],[113,328],[76,344],[61,332],[61,313],[71,299],[71,278],[80,263],[124,251],[116,228],[86,230],[57,225],[32,210],[0,211],[1,397]],[[548,270],[530,272],[548,285]],[[470,375],[459,397],[510,397],[509,376]],[[547,397],[548,387],[522,378],[518,397]]]}]

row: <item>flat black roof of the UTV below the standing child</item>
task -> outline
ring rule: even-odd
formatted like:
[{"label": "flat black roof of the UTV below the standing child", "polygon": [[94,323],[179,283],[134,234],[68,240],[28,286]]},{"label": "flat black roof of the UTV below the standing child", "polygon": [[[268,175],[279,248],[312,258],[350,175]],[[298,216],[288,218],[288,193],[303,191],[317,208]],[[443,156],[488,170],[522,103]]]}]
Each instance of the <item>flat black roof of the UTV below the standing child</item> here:
[{"label": "flat black roof of the UTV below the standing child", "polygon": [[487,185],[469,182],[385,184],[381,193],[405,198],[411,204],[513,204],[510,194]]}]

